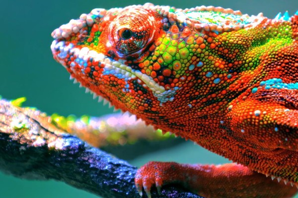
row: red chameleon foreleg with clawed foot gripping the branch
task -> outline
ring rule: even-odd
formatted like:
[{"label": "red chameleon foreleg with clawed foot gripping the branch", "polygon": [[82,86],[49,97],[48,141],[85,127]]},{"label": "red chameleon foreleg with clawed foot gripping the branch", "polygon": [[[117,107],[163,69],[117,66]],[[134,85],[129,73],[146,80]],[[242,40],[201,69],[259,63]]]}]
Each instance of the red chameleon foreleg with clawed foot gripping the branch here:
[{"label": "red chameleon foreleg with clawed foot gripping the branch", "polygon": [[162,186],[173,183],[207,198],[291,198],[298,191],[290,183],[272,181],[270,177],[234,163],[191,165],[153,161],[142,166],[135,176],[141,197],[143,188],[151,198],[152,186],[156,186],[160,195]]}]

